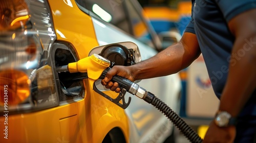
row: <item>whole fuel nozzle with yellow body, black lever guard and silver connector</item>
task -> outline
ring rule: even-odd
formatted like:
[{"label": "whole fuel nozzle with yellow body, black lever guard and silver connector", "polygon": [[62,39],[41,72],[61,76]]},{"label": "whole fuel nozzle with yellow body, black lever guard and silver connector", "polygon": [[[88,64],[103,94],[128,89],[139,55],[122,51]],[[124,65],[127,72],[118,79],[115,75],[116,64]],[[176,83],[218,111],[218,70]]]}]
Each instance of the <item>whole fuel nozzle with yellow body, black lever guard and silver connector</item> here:
[{"label": "whole fuel nozzle with yellow body, black lever guard and silver connector", "polygon": [[[119,93],[119,96],[116,99],[112,99],[108,95],[98,90],[94,82],[98,79],[105,78],[106,73],[108,73],[108,71],[111,69],[109,66],[110,61],[108,59],[105,59],[97,54],[94,54],[90,57],[83,58],[77,62],[69,63],[65,66],[56,67],[56,71],[69,71],[70,73],[87,73],[88,77],[84,78],[89,78],[89,82],[90,85],[93,86],[93,90],[95,90],[97,93],[101,94],[101,96],[105,97],[106,99],[109,99],[111,102],[117,104],[123,109],[127,108],[131,101],[131,97],[129,98],[129,101],[127,103],[124,101],[124,95],[126,91],[137,96],[140,99],[148,99],[148,92],[144,88],[120,76],[114,76],[111,79],[112,82],[117,82],[118,87],[121,88],[121,92]],[[119,103],[120,100],[123,100],[123,104]]]}]

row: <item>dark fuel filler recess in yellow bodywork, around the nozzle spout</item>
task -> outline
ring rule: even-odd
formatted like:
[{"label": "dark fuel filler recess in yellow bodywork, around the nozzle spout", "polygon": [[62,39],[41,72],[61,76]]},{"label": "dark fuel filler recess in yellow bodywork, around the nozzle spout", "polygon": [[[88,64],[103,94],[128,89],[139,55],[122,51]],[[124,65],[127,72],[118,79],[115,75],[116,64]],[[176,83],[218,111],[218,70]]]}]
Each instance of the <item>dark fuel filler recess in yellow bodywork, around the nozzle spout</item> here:
[{"label": "dark fuel filler recess in yellow bodywork, around the nozzle spout", "polygon": [[[64,42],[54,43],[51,51],[51,62],[56,67],[78,61],[73,47]],[[83,73],[55,72],[60,103],[70,103],[83,99],[85,89],[81,77]]]}]

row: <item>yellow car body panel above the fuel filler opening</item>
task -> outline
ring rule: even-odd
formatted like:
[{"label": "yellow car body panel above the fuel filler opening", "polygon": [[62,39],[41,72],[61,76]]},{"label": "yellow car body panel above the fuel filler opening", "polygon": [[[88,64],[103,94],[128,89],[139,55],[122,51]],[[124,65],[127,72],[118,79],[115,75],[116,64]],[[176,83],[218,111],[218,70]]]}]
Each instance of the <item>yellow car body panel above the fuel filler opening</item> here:
[{"label": "yellow car body panel above the fuel filler opening", "polygon": [[74,1],[49,1],[57,40],[70,42],[82,59],[98,46],[91,17],[82,12]]}]

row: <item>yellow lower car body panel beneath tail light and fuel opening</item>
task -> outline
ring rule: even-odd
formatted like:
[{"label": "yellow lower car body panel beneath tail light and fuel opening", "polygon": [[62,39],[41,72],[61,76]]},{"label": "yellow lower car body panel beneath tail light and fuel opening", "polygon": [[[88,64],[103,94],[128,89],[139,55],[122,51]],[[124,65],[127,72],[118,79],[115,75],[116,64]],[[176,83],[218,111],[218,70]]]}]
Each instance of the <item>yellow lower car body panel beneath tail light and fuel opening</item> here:
[{"label": "yellow lower car body panel beneath tail light and fuel opening", "polygon": [[[8,139],[1,137],[0,141],[101,142],[113,127],[120,127],[128,137],[124,111],[99,95],[96,96],[39,112],[9,115]],[[3,122],[4,118],[0,120]]]}]

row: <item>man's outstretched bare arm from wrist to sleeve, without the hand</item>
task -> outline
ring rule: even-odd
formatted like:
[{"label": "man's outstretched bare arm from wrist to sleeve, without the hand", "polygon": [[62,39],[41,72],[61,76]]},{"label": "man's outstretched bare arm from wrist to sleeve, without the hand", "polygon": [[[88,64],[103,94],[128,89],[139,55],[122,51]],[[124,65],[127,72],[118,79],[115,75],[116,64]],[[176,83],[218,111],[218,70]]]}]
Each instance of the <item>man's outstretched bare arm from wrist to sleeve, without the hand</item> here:
[{"label": "man's outstretched bare arm from wrist to sleeve, without the hand", "polygon": [[136,80],[177,73],[191,64],[200,49],[195,34],[185,33],[181,41],[167,47],[154,57],[134,65]]}]

